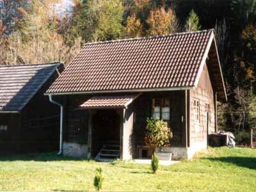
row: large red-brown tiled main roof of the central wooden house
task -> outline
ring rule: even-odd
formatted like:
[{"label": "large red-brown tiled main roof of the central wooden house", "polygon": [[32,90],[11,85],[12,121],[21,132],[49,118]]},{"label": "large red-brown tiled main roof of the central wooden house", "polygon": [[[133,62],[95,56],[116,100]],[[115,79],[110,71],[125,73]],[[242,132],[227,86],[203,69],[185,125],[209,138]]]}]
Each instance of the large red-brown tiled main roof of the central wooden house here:
[{"label": "large red-brown tiled main roof of the central wooden house", "polygon": [[86,44],[47,93],[193,87],[213,36],[210,29]]}]

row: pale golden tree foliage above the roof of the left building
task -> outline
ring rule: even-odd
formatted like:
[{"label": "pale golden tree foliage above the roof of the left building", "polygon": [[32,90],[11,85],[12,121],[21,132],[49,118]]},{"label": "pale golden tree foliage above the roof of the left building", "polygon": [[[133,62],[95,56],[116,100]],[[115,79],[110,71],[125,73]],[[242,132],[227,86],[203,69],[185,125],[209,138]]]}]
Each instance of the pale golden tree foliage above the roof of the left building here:
[{"label": "pale golden tree foliage above the roof of the left building", "polygon": [[80,49],[79,40],[70,47],[58,34],[60,17],[56,13],[58,0],[33,0],[28,8],[19,8],[20,19],[15,32],[8,36],[6,64],[70,62]]}]

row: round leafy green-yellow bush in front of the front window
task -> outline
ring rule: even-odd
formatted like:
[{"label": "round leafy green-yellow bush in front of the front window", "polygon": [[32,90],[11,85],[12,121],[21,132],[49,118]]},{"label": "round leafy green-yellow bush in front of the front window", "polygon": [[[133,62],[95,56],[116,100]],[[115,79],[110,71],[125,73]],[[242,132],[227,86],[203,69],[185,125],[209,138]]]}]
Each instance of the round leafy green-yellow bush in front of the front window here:
[{"label": "round leafy green-yellow bush in front of the front window", "polygon": [[170,143],[170,138],[172,138],[172,131],[167,122],[154,118],[147,119],[144,138],[145,145],[150,147],[163,147]]}]

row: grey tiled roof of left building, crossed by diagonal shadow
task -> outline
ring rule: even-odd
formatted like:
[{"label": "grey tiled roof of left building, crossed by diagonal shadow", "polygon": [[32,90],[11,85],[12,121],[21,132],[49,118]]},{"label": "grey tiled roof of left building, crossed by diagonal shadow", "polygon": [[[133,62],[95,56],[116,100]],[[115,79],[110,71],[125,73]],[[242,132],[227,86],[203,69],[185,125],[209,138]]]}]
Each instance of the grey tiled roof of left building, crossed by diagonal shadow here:
[{"label": "grey tiled roof of left building, crossed by diagonal shadow", "polygon": [[20,111],[60,63],[0,66],[0,111]]}]

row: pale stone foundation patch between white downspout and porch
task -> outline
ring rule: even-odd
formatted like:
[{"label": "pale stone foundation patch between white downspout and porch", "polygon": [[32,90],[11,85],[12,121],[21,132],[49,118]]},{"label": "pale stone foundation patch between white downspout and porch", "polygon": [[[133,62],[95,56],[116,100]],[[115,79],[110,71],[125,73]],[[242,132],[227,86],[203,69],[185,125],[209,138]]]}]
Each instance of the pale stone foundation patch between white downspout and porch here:
[{"label": "pale stone foundation patch between white downspout and porch", "polygon": [[68,157],[87,157],[88,145],[64,142],[63,155]]}]

